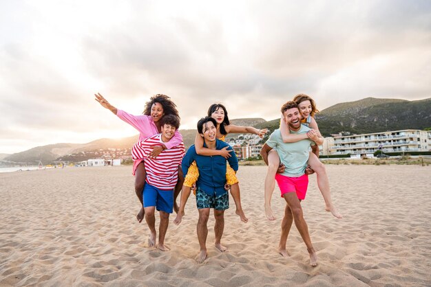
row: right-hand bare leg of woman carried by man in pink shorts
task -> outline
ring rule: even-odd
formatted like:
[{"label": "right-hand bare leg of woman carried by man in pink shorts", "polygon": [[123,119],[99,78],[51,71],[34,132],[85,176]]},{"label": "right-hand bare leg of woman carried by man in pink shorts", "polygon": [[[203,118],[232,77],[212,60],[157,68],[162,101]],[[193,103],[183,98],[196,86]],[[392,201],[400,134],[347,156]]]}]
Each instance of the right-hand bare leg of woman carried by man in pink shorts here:
[{"label": "right-hand bare leg of woman carried by man in pink shorts", "polygon": [[317,174],[317,185],[319,186],[319,190],[322,193],[322,196],[325,200],[325,210],[330,211],[333,216],[336,218],[343,218],[341,214],[333,205],[332,200],[330,199],[330,187],[328,175],[326,174],[325,165],[319,161],[313,152],[310,152],[310,157],[308,158],[308,164]]}]

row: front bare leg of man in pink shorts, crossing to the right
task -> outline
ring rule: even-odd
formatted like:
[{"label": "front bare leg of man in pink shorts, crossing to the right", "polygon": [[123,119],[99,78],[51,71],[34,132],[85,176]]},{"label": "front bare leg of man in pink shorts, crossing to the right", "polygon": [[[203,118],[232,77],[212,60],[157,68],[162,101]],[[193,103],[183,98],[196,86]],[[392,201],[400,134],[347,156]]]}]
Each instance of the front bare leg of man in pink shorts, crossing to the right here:
[{"label": "front bare leg of man in pink shorts, crossing to the right", "polygon": [[293,215],[293,220],[295,220],[295,226],[301,234],[302,240],[307,246],[308,254],[310,254],[310,264],[311,266],[317,266],[317,254],[311,244],[310,234],[308,233],[308,226],[305,222],[304,215],[302,214],[302,207],[299,199],[297,198],[296,192],[287,192],[284,194],[284,200],[290,207]]}]

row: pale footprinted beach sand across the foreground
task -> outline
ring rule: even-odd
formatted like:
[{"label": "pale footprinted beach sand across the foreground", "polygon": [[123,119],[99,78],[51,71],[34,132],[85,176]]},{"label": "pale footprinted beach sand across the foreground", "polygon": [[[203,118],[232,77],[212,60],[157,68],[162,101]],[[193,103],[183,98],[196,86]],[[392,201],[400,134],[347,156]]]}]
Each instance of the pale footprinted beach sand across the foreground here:
[{"label": "pale footprinted beach sand across the foreground", "polygon": [[[222,244],[197,264],[198,211],[193,195],[181,225],[172,223],[171,251],[147,247],[136,221],[132,167],[87,167],[0,174],[0,286],[431,286],[431,167],[326,165],[333,201],[344,218],[324,211],[315,175],[302,203],[319,265],[309,265],[295,226],[277,253],[277,220],[264,216],[264,166],[238,172],[249,222],[226,211]],[[156,214],[158,225],[158,214]]]}]

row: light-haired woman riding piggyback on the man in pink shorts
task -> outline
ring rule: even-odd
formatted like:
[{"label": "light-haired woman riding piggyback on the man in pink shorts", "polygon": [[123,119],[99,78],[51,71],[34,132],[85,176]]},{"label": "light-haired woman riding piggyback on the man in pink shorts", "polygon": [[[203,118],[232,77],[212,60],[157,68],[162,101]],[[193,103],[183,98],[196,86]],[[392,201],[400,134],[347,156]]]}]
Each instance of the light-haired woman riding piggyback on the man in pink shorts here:
[{"label": "light-haired woman riding piggyback on the man in pink shorts", "polygon": [[[298,105],[299,113],[302,115],[302,124],[312,128],[319,137],[322,137],[319,127],[317,126],[317,122],[314,119],[315,113],[319,113],[314,100],[308,95],[300,93],[293,97],[293,102],[296,102]],[[306,133],[301,135],[290,133],[290,130],[283,119],[280,121],[280,132],[285,143],[293,143],[308,138],[308,134]],[[274,191],[274,178],[279,165],[280,158],[278,157],[277,151],[273,149],[268,154],[268,172],[265,178],[265,214],[269,220],[275,220],[273,210],[271,209],[271,196]],[[311,173],[315,172],[317,174],[317,186],[325,200],[326,211],[330,211],[330,213],[336,218],[342,218],[330,198],[328,175],[326,174],[325,165],[319,161],[319,147],[317,145],[313,146],[312,151],[310,152],[307,170]]]}]

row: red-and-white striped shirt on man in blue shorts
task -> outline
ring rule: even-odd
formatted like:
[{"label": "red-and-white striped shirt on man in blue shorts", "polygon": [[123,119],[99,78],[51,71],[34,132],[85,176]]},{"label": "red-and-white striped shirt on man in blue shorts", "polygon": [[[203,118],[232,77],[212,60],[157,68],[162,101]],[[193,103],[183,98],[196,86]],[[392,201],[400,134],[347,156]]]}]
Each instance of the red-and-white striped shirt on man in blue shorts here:
[{"label": "red-and-white striped shirt on man in blue shorts", "polygon": [[162,150],[156,159],[151,159],[148,154],[152,147],[162,146],[162,134],[153,135],[133,145],[132,158],[144,159],[147,172],[147,183],[160,190],[173,190],[178,181],[178,165],[185,155],[184,143],[174,146],[169,150]]}]

